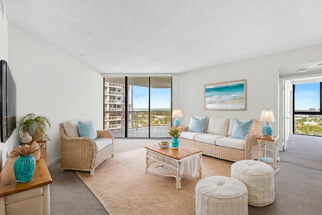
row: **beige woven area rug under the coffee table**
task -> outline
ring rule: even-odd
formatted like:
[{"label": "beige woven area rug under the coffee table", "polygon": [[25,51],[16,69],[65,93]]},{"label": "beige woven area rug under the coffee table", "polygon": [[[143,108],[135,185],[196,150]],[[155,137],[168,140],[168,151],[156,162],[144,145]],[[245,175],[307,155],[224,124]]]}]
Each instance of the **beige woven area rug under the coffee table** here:
[{"label": "beige woven area rug under the coffee table", "polygon": [[210,176],[230,177],[233,163],[209,156],[202,159],[203,177],[198,172],[194,178],[182,177],[181,189],[173,177],[158,175],[150,167],[145,173],[144,148],[115,154],[96,168],[94,176],[75,172],[109,214],[195,214],[197,182]]}]

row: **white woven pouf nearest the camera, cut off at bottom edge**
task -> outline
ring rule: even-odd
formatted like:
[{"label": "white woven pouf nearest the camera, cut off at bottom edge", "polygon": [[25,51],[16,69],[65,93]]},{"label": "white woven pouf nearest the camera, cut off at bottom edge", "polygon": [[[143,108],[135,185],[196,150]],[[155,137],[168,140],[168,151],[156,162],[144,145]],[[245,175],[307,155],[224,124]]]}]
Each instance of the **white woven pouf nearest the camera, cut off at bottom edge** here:
[{"label": "white woven pouf nearest the camera, cut off at bottom edge", "polygon": [[196,184],[196,214],[248,214],[247,187],[237,179],[212,176]]}]

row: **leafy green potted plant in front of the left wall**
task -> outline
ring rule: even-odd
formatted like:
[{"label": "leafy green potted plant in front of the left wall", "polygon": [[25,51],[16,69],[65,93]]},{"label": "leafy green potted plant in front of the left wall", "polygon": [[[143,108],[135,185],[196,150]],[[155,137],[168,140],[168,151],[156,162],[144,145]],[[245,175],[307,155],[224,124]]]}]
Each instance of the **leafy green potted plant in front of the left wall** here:
[{"label": "leafy green potted plant in front of the left wall", "polygon": [[45,133],[46,128],[50,128],[50,121],[44,116],[36,116],[33,113],[27,114],[18,122],[19,133],[29,132],[29,130],[35,131],[33,135],[33,141],[42,140],[43,136],[49,139]]}]

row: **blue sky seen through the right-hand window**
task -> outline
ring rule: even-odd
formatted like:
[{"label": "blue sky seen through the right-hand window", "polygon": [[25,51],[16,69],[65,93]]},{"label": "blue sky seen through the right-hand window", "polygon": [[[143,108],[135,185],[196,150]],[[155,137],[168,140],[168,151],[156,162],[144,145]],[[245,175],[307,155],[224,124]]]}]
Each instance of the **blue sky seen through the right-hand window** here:
[{"label": "blue sky seen through the right-hand window", "polygon": [[320,106],[320,83],[295,85],[295,110],[308,110]]}]

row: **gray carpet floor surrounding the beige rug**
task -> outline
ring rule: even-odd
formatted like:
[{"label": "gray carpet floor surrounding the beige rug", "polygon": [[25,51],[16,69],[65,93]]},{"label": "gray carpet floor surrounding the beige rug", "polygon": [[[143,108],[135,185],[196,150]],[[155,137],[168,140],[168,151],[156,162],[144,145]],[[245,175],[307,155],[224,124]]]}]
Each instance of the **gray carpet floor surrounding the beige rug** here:
[{"label": "gray carpet floor surrounding the beige rug", "polygon": [[[162,140],[115,139],[115,156],[159,141]],[[281,161],[277,167],[281,170],[274,177],[274,202],[264,207],[249,205],[249,214],[320,214],[322,137],[291,135],[286,151],[280,152],[279,156]],[[101,165],[105,164],[108,159]],[[48,167],[53,180],[50,184],[51,214],[107,214],[75,172],[60,173],[59,165],[58,162]]]}]

